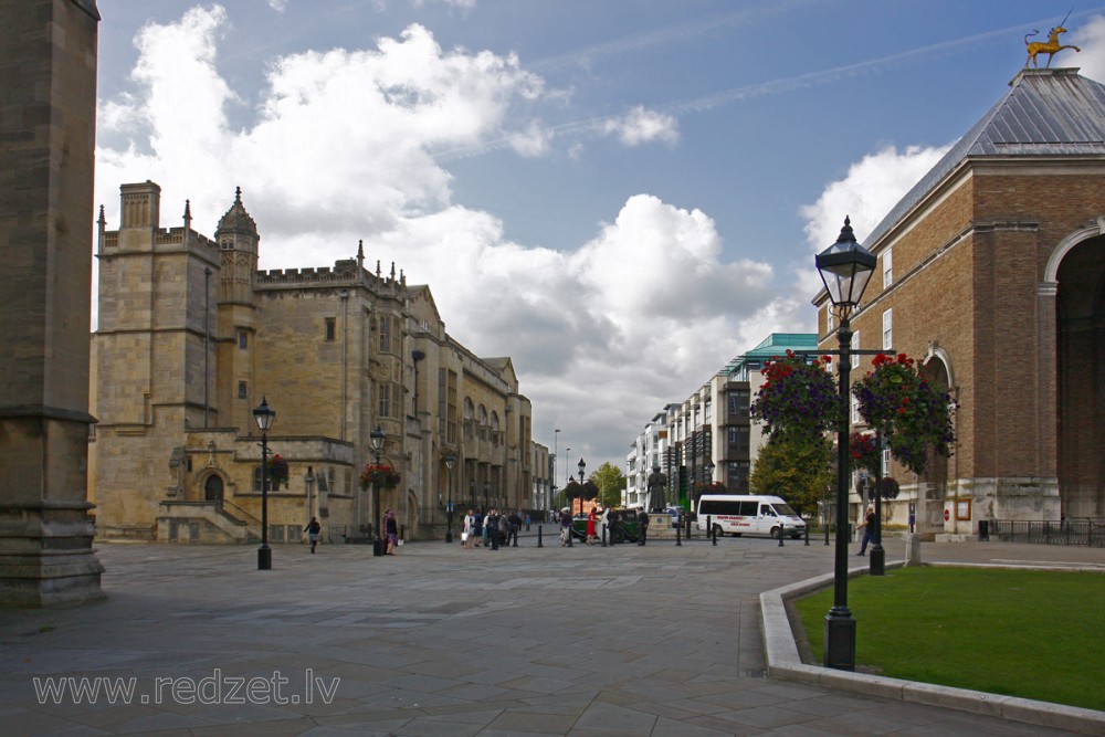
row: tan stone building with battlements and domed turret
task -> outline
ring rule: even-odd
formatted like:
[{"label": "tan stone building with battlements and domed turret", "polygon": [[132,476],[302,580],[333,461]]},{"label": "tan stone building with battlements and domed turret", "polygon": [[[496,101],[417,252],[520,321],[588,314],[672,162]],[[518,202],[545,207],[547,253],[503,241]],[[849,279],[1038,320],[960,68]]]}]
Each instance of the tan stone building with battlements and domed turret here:
[{"label": "tan stone building with battlements and domed turret", "polygon": [[[213,238],[160,225],[160,188],[123,185],[120,223],[98,223],[90,488],[97,535],[168,541],[260,537],[253,410],[276,411],[270,453],[290,467],[269,493],[273,541],[312,516],[324,539],[365,539],[393,509],[408,538],[444,536],[446,507],[532,496],[532,408],[509,358],[445,331],[430,288],[365,265],[257,271],[261,238],[236,193]],[[380,462],[394,488],[362,491]],[[454,467],[446,460],[452,456]],[[481,502],[483,502],[483,496]]]}]

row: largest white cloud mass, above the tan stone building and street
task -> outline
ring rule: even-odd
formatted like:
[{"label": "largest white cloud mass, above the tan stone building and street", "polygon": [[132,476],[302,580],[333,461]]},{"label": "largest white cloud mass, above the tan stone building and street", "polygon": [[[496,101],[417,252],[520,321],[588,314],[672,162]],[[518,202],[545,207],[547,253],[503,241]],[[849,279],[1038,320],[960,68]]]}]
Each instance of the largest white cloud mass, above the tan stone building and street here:
[{"label": "largest white cloud mass, above the tan stone building and street", "polygon": [[[629,197],[590,242],[559,252],[511,242],[497,218],[453,202],[435,152],[549,148],[555,131],[525,110],[559,93],[514,56],[443,51],[411,25],[375,49],[275,59],[266,88],[239,95],[217,64],[228,25],[222,8],[196,8],[136,39],[136,88],[99,103],[96,201],[108,228],[119,185],[152,179],[162,227],[179,222],[187,198],[208,235],[241,186],[262,269],[328,266],[364,239],[371,267],[394,262],[409,283],[430,285],[459,340],[514,358],[535,417],[587,423],[608,445],[580,450],[613,457],[628,428],[680,399],[673,386],[690,393],[801,309],[776,298],[766,263],[723,262],[698,210]],[[227,112],[243,98],[259,101],[257,122],[232,129]],[[609,134],[631,146],[678,136],[674,118],[644,108]]]}]

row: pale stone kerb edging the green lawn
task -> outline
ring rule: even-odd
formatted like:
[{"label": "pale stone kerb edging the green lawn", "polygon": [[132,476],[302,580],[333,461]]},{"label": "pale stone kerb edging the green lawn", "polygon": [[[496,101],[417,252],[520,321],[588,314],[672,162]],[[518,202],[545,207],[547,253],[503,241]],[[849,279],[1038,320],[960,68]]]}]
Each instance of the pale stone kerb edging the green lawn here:
[{"label": "pale stone kerb edging the green lawn", "polygon": [[[886,568],[901,568],[905,561],[886,562]],[[1031,568],[1042,570],[1101,570],[1095,565],[1042,566],[1042,565],[999,565],[968,562],[926,562],[934,567],[957,568]],[[863,576],[869,567],[857,566],[849,569],[849,578]],[[807,593],[819,591],[832,586],[834,575],[825,573],[814,578],[797,581],[788,586],[765,591],[760,594],[760,620],[762,625],[764,651],[767,660],[768,674],[781,681],[794,681],[811,685],[839,688],[852,693],[877,695],[896,698],[903,702],[941,706],[947,708],[996,716],[1003,719],[1025,722],[1056,729],[1069,729],[1093,735],[1105,735],[1105,712],[1052,704],[1031,698],[1002,696],[969,688],[954,688],[930,683],[891,678],[869,673],[838,671],[820,665],[803,663],[798,654],[798,644],[787,615],[786,601],[797,599]]]}]

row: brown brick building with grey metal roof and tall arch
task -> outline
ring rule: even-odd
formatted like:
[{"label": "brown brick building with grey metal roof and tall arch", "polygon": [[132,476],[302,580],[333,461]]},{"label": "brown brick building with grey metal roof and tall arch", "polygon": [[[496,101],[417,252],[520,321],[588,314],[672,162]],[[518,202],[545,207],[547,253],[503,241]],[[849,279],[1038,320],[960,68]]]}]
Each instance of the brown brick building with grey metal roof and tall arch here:
[{"label": "brown brick building with grey metal roof and tall arch", "polygon": [[[950,459],[891,467],[918,531],[1105,516],[1105,86],[1018,74],[865,246],[853,347],[919,358],[959,404]],[[828,295],[814,305],[834,348]]]}]

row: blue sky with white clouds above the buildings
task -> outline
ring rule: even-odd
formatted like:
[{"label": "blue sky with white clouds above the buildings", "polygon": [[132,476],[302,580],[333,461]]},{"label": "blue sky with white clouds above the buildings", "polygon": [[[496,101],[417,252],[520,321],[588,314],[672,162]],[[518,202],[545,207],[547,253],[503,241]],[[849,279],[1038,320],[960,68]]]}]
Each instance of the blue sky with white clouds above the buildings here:
[{"label": "blue sky with white clouds above the buildings", "polygon": [[[1105,82],[1105,6],[1041,0],[98,0],[96,203],[161,186],[260,269],[365,243],[509,356],[560,468],[774,331],[1008,91],[1025,34]],[[1043,57],[1044,60],[1046,57]],[[95,324],[95,316],[93,316]],[[554,431],[560,432],[554,436]],[[567,449],[571,449],[568,451]]]}]

